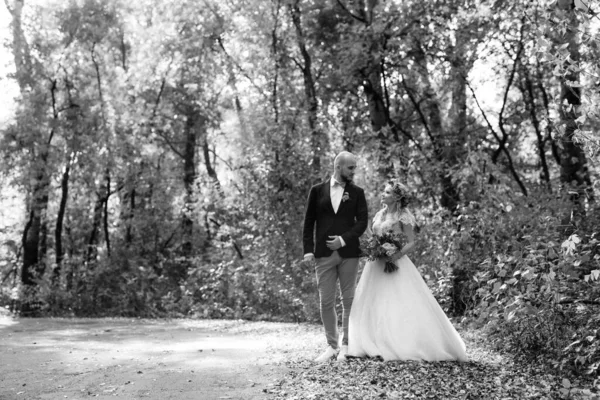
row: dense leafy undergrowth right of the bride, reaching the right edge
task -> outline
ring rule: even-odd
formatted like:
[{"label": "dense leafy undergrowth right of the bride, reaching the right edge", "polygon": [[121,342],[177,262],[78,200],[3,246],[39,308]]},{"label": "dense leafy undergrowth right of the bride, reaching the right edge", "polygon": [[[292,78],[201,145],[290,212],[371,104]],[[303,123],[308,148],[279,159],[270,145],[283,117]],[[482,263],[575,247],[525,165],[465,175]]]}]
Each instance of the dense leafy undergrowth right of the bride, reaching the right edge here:
[{"label": "dense leafy undergrowth right of the bride, reaching the right edge", "polygon": [[597,211],[573,219],[568,196],[522,196],[498,170],[482,174],[486,156],[470,160],[455,173],[470,202],[458,218],[421,208],[411,258],[442,307],[485,327],[497,348],[596,376]]}]

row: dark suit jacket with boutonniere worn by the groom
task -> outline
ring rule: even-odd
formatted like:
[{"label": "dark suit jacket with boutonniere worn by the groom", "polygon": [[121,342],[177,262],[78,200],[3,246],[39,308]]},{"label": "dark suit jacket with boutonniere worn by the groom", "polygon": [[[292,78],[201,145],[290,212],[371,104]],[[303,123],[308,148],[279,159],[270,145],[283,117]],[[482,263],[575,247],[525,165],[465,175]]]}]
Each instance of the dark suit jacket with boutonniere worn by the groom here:
[{"label": "dark suit jacket with boutonniere worn by the groom", "polygon": [[347,183],[338,212],[335,213],[331,205],[330,183],[331,179],[327,179],[310,188],[304,216],[304,254],[313,253],[317,258],[329,257],[333,251],[327,247],[326,241],[331,240],[329,236],[335,235],[341,236],[346,243],[338,250],[341,257],[358,257],[358,238],[367,229],[369,220],[365,192]]}]

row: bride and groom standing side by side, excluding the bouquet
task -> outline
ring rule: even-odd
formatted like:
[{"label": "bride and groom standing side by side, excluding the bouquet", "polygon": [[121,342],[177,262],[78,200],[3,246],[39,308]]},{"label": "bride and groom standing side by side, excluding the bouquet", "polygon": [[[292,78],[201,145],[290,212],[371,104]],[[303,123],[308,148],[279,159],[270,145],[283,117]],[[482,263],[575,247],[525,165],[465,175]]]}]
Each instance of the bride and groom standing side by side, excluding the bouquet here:
[{"label": "bride and groom standing side by side, excluding the bouquet", "polygon": [[[465,344],[441,309],[415,265],[407,257],[414,247],[415,218],[407,208],[409,193],[399,182],[381,193],[382,208],[371,232],[392,233],[405,243],[388,260],[367,261],[356,284],[359,238],[369,225],[364,190],[352,180],[356,156],[341,152],[331,179],[310,189],[304,218],[304,261],[317,276],[321,319],[328,347],[316,362],[346,356],[384,360],[466,361]],[[343,304],[340,343],[335,310],[337,286]]]}]

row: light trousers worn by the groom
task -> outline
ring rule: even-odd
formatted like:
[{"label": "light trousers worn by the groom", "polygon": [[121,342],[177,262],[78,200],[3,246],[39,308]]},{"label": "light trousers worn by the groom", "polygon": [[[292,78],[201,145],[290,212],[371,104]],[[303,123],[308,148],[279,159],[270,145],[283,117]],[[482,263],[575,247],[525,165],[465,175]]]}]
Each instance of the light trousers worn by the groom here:
[{"label": "light trousers worn by the groom", "polygon": [[338,324],[335,312],[337,283],[340,282],[342,292],[343,331],[342,345],[348,345],[348,319],[354,300],[356,276],[358,274],[358,258],[342,258],[337,251],[329,257],[316,259],[317,287],[321,302],[321,320],[325,327],[327,343],[334,349],[338,348]]}]

